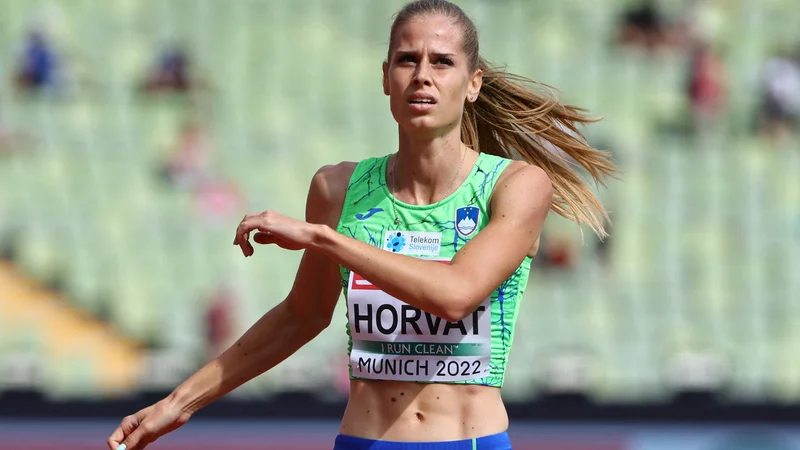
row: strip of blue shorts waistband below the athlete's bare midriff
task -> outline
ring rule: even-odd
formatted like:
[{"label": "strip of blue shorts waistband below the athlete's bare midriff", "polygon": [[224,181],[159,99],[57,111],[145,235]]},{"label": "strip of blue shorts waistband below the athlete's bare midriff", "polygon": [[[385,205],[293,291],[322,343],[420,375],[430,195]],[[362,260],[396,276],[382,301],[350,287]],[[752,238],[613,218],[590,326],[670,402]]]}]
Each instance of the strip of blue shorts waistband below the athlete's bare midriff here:
[{"label": "strip of blue shorts waistband below the athlete's bare midriff", "polygon": [[511,440],[508,433],[448,442],[389,442],[340,434],[333,450],[511,450]]}]

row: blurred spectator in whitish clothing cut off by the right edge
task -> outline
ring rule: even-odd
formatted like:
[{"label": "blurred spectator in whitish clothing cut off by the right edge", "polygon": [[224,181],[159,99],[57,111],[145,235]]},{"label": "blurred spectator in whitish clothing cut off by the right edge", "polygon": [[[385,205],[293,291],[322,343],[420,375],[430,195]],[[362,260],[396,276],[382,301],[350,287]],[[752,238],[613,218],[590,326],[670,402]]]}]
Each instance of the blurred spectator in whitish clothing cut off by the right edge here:
[{"label": "blurred spectator in whitish clothing cut off by the right edge", "polygon": [[767,61],[761,76],[761,133],[784,142],[800,117],[800,62],[781,52]]}]

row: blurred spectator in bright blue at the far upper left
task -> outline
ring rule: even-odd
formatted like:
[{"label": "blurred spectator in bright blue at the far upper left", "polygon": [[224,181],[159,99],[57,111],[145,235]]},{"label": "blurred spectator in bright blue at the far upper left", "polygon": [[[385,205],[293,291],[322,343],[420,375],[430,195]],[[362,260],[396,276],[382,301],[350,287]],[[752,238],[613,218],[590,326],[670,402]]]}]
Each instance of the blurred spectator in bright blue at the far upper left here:
[{"label": "blurred spectator in bright blue at the far upper left", "polygon": [[22,91],[39,91],[57,85],[58,57],[42,30],[32,29],[20,55],[14,84]]}]

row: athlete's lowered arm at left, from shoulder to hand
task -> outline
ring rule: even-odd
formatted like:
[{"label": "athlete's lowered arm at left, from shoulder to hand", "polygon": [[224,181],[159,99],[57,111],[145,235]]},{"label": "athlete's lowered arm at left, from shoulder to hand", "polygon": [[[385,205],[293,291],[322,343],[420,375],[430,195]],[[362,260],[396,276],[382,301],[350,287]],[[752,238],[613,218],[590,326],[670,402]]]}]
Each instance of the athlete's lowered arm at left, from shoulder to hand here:
[{"label": "athlete's lowered arm at left, from shoulder to hand", "polygon": [[[306,221],[337,227],[353,168],[342,163],[316,173]],[[197,410],[284,361],[330,324],[341,290],[339,266],[321,252],[306,250],[286,299],[167,398],[126,417],[108,439],[109,448],[125,444],[127,450],[141,450]]]}]

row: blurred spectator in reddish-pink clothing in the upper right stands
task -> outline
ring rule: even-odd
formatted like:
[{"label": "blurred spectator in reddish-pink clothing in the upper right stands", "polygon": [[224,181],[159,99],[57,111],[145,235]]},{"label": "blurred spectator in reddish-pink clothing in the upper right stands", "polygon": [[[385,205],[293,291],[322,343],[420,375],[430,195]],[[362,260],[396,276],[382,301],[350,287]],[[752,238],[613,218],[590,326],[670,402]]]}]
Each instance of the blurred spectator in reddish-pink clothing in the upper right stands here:
[{"label": "blurred spectator in reddish-pink clothing in the upper right stands", "polygon": [[713,126],[725,103],[725,66],[713,46],[698,40],[689,62],[687,97],[694,132]]}]

